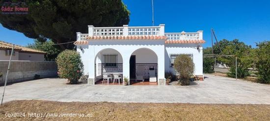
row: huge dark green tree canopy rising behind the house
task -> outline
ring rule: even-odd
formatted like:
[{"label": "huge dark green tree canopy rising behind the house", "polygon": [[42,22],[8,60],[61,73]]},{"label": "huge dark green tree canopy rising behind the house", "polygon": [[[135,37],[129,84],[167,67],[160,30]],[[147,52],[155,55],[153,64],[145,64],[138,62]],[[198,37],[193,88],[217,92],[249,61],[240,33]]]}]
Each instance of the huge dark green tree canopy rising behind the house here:
[{"label": "huge dark green tree canopy rising behind the house", "polygon": [[[1,0],[3,4],[5,0]],[[12,0],[16,3],[21,0]],[[0,14],[5,28],[28,38],[54,43],[76,40],[76,32],[88,33],[95,27],[122,26],[129,23],[130,12],[122,0],[26,0],[27,14]],[[72,43],[62,49],[73,48]]]}]

